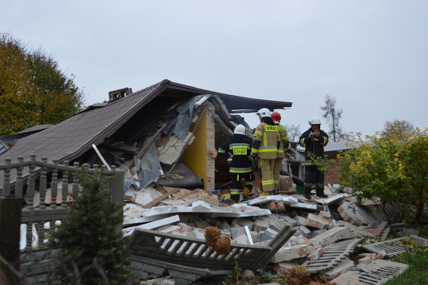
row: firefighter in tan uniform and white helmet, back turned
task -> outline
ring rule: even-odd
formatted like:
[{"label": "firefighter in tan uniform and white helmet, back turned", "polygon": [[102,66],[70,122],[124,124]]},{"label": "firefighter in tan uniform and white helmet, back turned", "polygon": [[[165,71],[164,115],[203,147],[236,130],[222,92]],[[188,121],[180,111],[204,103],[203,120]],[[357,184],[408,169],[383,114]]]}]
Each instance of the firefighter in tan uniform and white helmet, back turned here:
[{"label": "firefighter in tan uniform and white helmet, back turned", "polygon": [[273,122],[269,109],[263,108],[257,112],[260,124],[254,131],[251,156],[258,160],[258,173],[261,181],[262,193],[266,196],[274,192],[273,166],[279,149],[278,127]]}]

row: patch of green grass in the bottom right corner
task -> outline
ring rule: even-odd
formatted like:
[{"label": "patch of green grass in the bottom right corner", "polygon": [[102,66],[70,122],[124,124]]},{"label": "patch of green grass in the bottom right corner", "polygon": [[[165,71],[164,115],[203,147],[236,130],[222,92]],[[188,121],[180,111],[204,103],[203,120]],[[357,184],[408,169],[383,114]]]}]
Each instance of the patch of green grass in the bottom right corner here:
[{"label": "patch of green grass in the bottom right corner", "polygon": [[409,265],[409,268],[385,285],[425,285],[428,284],[428,248],[418,248],[405,252],[392,261]]}]

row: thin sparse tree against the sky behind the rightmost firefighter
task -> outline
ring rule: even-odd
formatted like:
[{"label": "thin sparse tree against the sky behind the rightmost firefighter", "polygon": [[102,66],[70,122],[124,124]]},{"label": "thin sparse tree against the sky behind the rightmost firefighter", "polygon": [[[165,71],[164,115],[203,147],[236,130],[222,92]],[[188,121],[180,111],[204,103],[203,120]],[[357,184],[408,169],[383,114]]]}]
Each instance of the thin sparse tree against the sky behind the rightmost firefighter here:
[{"label": "thin sparse tree against the sky behind the rightmost firefighter", "polygon": [[323,118],[329,123],[330,126],[330,137],[333,137],[333,141],[345,140],[347,134],[344,133],[341,126],[339,125],[339,119],[342,118],[342,109],[336,108],[336,98],[326,94],[324,98],[324,106],[319,106],[323,111]]}]

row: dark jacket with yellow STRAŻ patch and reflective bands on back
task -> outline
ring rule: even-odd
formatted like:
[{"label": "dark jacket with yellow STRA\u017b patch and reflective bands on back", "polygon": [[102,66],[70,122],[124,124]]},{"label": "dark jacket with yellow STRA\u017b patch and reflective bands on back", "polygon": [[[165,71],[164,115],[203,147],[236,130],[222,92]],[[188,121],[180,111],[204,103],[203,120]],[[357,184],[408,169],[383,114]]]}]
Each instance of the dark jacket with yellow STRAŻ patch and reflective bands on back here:
[{"label": "dark jacket with yellow STRA\u017b patch and reflective bands on back", "polygon": [[225,142],[219,148],[219,153],[222,155],[230,157],[233,154],[230,173],[253,172],[251,160],[249,159],[251,142],[244,135],[234,134],[231,140]]}]

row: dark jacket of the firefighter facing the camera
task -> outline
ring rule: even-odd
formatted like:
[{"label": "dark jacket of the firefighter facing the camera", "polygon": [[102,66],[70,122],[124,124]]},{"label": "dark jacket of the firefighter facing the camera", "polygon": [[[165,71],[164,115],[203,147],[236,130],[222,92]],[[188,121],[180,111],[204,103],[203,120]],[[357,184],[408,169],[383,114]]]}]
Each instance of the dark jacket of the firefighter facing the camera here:
[{"label": "dark jacket of the firefighter facing the camera", "polygon": [[316,157],[324,157],[324,147],[329,143],[329,136],[323,130],[319,130],[319,137],[313,136],[309,139],[309,134],[312,132],[312,128],[309,128],[299,137],[299,145],[304,147],[305,165],[313,165],[310,154],[315,154]]}]

